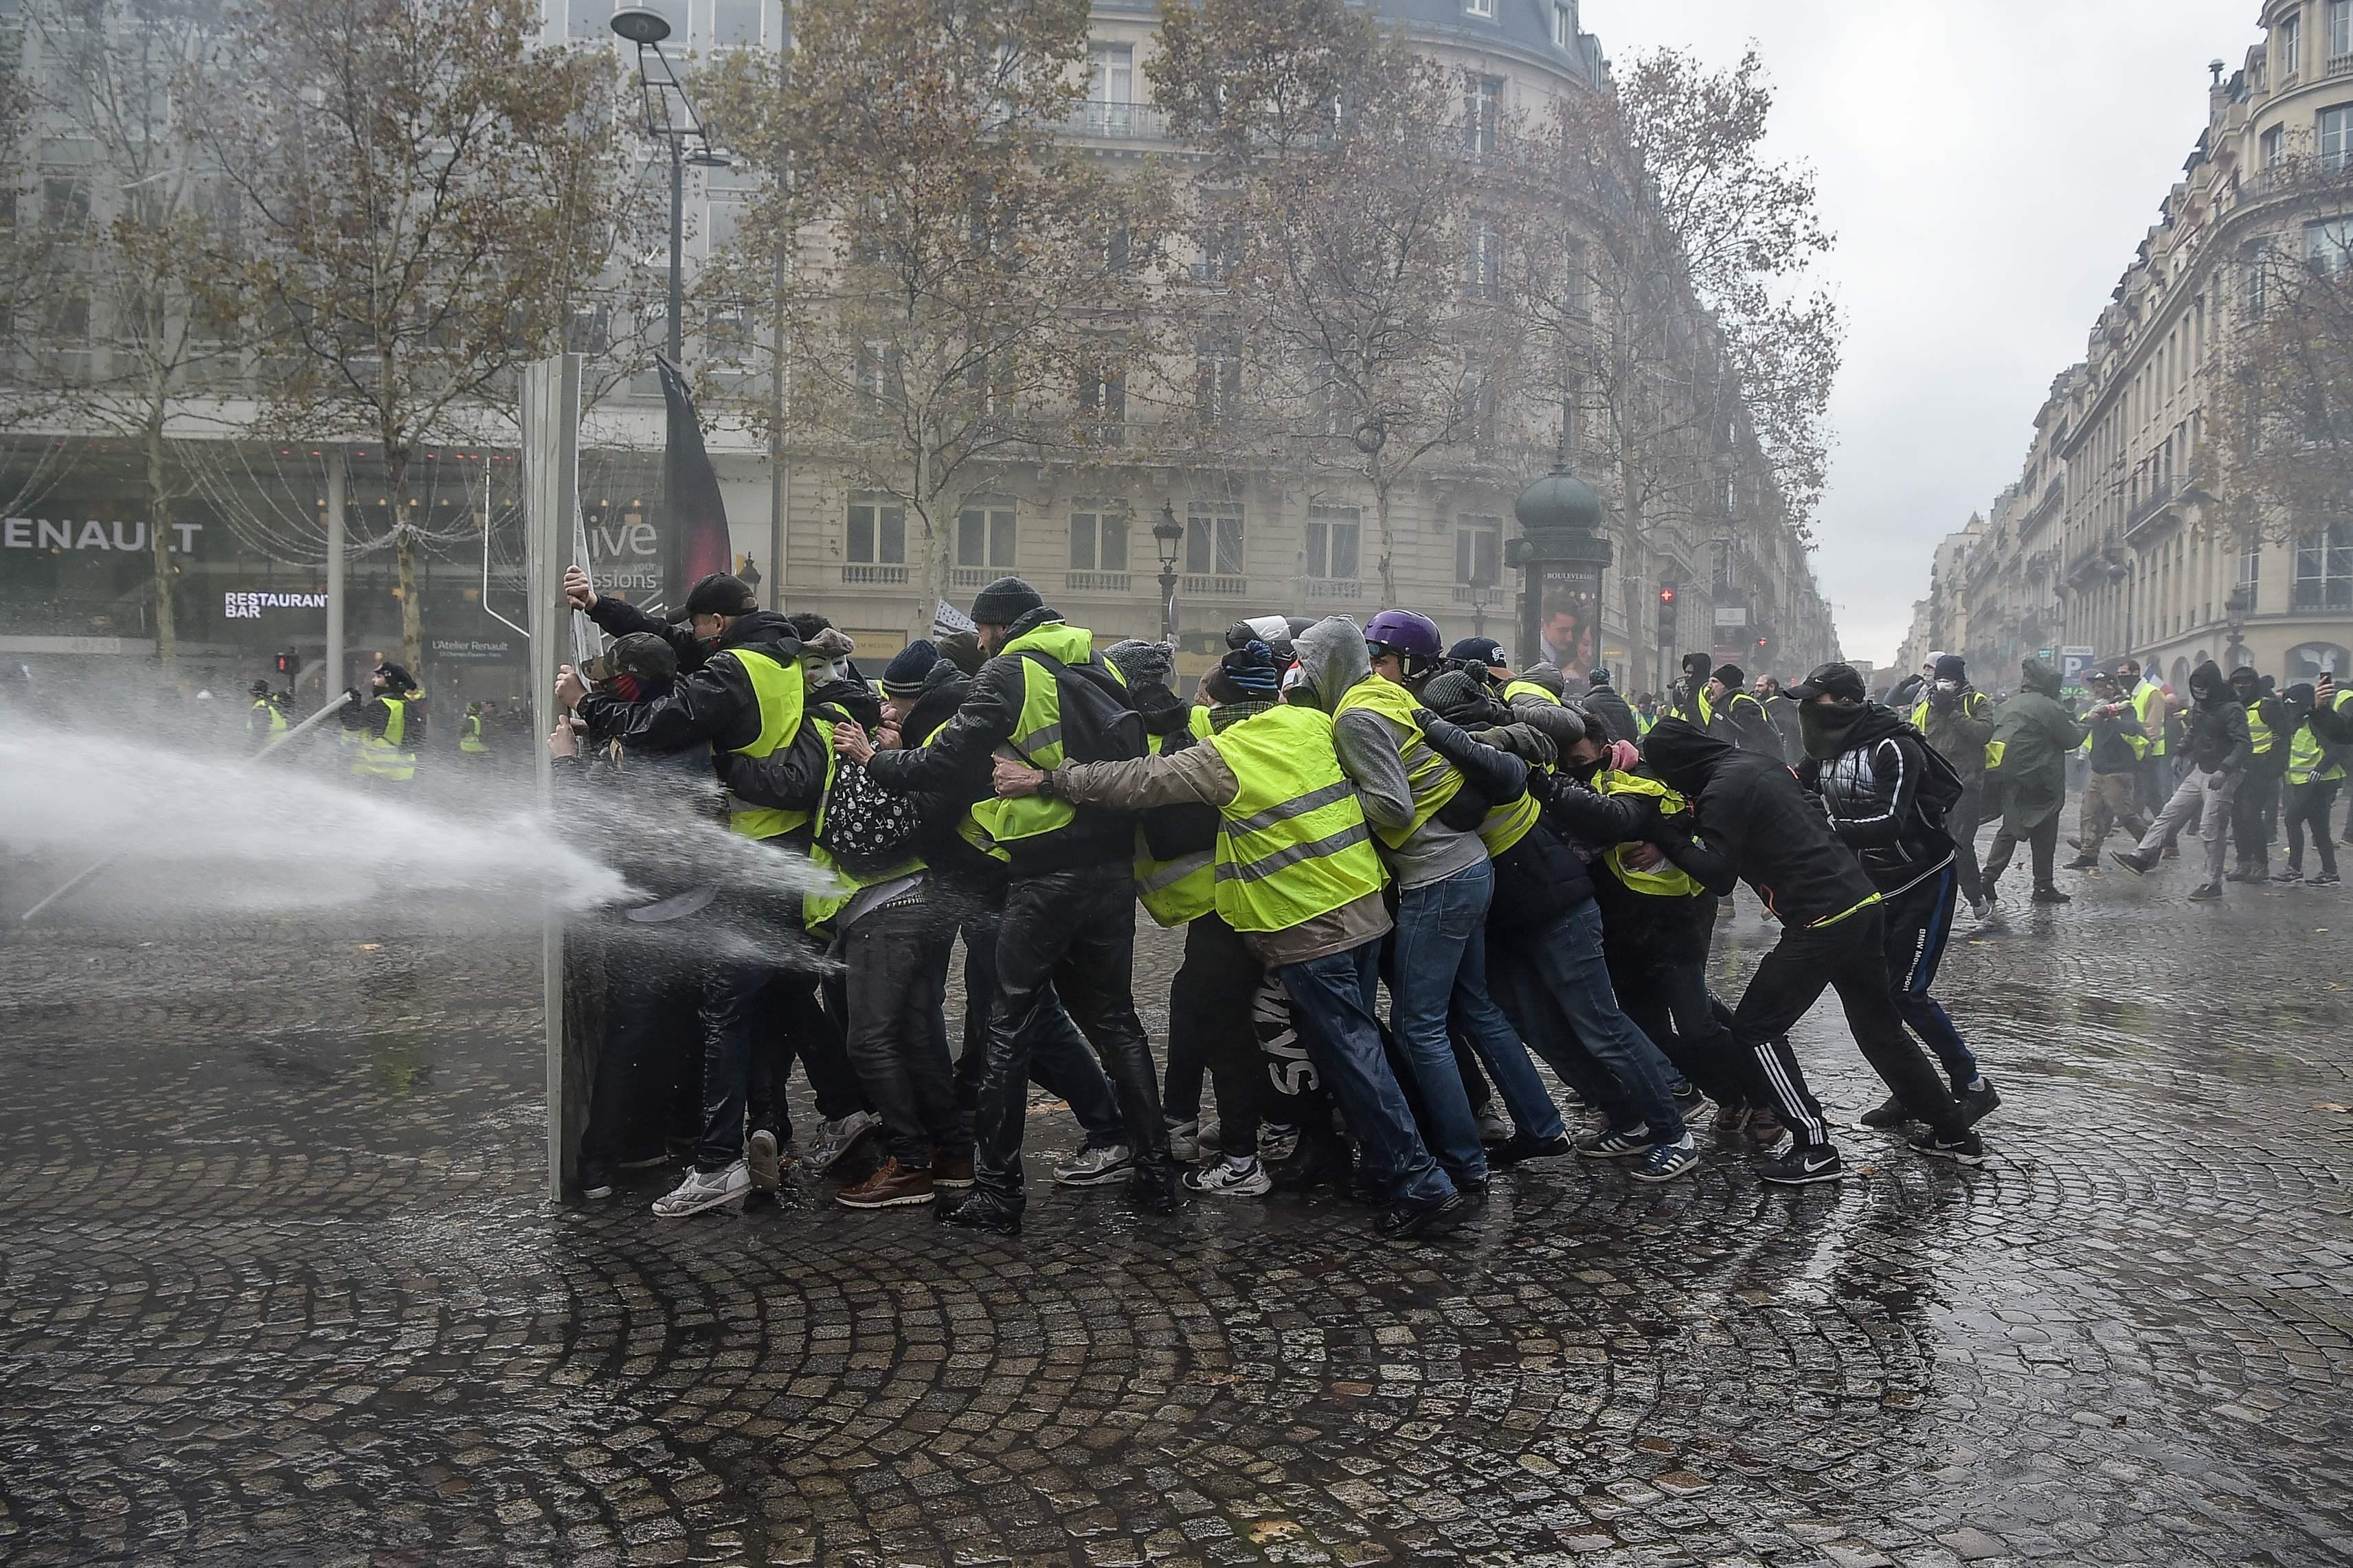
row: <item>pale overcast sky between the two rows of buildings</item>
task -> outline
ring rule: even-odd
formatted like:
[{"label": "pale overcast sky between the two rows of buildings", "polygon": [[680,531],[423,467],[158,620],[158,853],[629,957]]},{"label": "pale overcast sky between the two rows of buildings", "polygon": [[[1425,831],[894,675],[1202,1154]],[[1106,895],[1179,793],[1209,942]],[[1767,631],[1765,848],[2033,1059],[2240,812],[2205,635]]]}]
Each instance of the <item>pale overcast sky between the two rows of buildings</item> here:
[{"label": "pale overcast sky between the two rows of buildings", "polygon": [[1755,40],[1772,73],[1767,141],[1814,165],[1847,315],[1814,571],[1845,651],[1887,663],[1934,543],[2019,477],[2257,2],[1586,0],[1584,26],[1711,66]]}]

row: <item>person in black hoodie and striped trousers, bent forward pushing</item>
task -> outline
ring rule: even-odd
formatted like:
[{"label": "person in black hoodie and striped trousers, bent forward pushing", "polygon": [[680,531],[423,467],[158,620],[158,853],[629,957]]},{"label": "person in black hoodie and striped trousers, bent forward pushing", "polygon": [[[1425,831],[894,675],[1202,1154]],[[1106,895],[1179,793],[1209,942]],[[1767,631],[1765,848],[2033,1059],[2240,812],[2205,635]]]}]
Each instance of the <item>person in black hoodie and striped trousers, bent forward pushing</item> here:
[{"label": "person in black hoodie and striped trousers, bent forward pushing", "polygon": [[1904,1032],[1887,980],[1887,917],[1861,863],[1831,832],[1821,806],[1769,757],[1741,752],[1680,719],[1642,736],[1642,764],[1697,809],[1697,837],[1678,856],[1711,893],[1755,889],[1781,922],[1781,940],[1758,964],[1732,1009],[1732,1037],[1755,1056],[1791,1128],[1791,1150],[1758,1166],[1777,1185],[1835,1182],[1845,1161],[1821,1103],[1805,1086],[1788,1030],[1835,990],[1854,1044],[1927,1131],[1918,1154],[1965,1166],[1986,1147],[1927,1056]]}]

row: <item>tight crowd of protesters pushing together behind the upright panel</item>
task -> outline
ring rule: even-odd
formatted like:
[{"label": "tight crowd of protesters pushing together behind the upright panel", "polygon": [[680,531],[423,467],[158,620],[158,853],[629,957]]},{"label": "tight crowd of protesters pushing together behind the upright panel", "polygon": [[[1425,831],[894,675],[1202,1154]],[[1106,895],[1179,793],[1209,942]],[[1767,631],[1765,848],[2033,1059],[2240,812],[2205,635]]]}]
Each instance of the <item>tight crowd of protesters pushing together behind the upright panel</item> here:
[{"label": "tight crowd of protesters pushing together behind the upright panel", "polygon": [[[1155,1213],[1334,1185],[1409,1237],[1522,1161],[1687,1178],[1701,1126],[1767,1182],[1833,1182],[1791,1046],[1824,990],[1887,1086],[1864,1124],[1984,1161],[2000,1095],[1929,994],[1984,785],[1849,665],[1781,691],[1689,656],[1628,703],[1605,670],[1515,672],[1388,609],[1238,623],[1179,691],[1167,644],[1101,646],[1000,578],[974,632],[868,679],[838,628],[725,574],[675,623],[579,569],[567,592],[614,639],[558,686],[567,788],[807,867],[793,896],[621,867],[591,1199],[689,1140],[659,1215],[776,1190],[798,1157],[849,1208],[1014,1232],[1033,1084],[1085,1133],[1054,1182]],[[1739,884],[1779,938],[1720,997]],[[1184,929],[1172,976],[1136,973],[1139,919]],[[1158,1056],[1139,983],[1167,985]],[[821,1119],[798,1145],[795,1058]]]}]

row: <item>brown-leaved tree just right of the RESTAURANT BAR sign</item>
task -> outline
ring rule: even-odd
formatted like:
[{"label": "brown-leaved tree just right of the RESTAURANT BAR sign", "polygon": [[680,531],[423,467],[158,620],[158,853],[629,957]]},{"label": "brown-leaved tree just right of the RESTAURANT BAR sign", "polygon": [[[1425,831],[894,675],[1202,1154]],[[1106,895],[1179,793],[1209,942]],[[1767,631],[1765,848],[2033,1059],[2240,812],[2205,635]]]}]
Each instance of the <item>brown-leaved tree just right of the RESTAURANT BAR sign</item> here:
[{"label": "brown-leaved tree just right of the RESTAURANT BAR sign", "polygon": [[539,28],[532,0],[249,0],[207,71],[240,207],[216,289],[266,343],[266,428],[381,447],[412,670],[409,461],[499,421],[642,240],[614,61]]}]

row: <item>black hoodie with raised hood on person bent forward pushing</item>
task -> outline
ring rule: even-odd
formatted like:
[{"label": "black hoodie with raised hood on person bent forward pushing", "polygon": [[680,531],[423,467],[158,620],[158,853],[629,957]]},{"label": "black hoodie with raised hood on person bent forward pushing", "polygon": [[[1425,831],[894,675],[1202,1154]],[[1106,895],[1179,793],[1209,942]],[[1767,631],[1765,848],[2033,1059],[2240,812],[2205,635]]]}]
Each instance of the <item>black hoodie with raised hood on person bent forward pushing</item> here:
[{"label": "black hoodie with raised hood on person bent forward pushing", "polygon": [[1701,851],[1678,853],[1675,863],[1711,893],[1746,882],[1784,926],[1812,926],[1878,891],[1779,759],[1737,750],[1682,719],[1659,719],[1642,736],[1642,764],[1692,802]]}]

